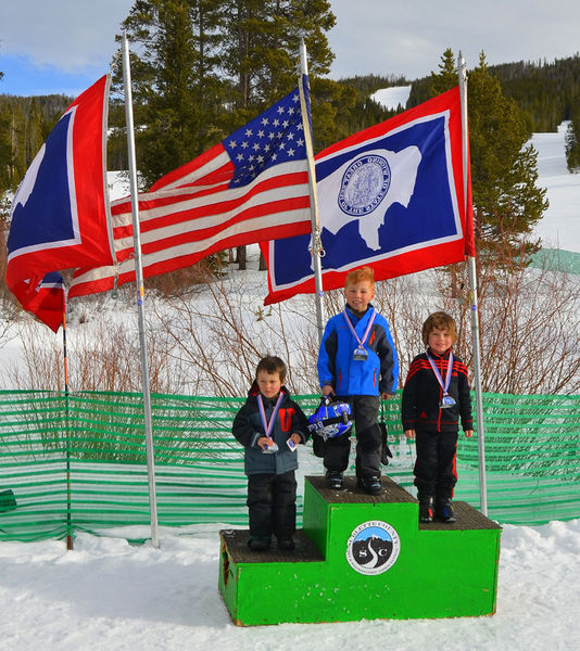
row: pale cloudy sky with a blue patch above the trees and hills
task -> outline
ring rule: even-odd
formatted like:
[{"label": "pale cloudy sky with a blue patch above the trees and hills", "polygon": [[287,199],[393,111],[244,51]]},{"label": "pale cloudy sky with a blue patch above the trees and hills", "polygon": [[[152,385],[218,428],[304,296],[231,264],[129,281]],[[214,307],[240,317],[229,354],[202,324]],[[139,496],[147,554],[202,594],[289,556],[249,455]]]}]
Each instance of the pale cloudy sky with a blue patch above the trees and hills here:
[{"label": "pale cloudy sky with a blue patch above the trees and hills", "polygon": [[[4,0],[0,15],[0,93],[76,95],[108,69],[115,34],[134,0]],[[580,51],[578,0],[331,0],[328,33],[335,78],[437,69],[442,52],[463,51],[468,67],[549,62]]]}]

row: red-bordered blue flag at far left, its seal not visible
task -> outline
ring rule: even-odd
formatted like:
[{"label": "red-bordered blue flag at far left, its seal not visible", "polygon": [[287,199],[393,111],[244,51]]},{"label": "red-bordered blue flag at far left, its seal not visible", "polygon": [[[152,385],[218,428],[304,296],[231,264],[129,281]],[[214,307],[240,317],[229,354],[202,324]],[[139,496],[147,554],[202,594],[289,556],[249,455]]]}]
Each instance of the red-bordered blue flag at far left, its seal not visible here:
[{"label": "red-bordered blue flag at far left, its seal not visible", "polygon": [[113,259],[105,202],[109,87],[105,75],[68,106],[12,202],[7,284],[34,314],[47,273]]}]

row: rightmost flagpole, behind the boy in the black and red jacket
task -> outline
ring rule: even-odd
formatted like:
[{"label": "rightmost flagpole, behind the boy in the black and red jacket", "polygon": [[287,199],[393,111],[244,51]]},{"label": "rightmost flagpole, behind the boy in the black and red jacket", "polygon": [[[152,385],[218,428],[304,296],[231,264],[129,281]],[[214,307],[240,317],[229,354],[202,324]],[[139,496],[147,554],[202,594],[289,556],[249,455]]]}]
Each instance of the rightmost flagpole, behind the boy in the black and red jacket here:
[{"label": "rightmost flagpole, behind the boy in the black and red jacket", "polygon": [[[459,52],[458,56],[459,72],[459,91],[462,100],[462,141],[463,141],[463,180],[464,180],[464,205],[467,216],[467,169],[468,169],[468,146],[467,146],[467,75],[465,72],[465,60]],[[471,303],[471,335],[474,347],[474,370],[475,370],[475,393],[477,405],[477,444],[479,451],[479,497],[481,502],[481,512],[488,514],[488,487],[486,480],[486,434],[483,431],[483,398],[481,395],[481,354],[479,348],[479,312],[477,297],[477,270],[476,258],[467,258],[469,270],[469,299]]]}]

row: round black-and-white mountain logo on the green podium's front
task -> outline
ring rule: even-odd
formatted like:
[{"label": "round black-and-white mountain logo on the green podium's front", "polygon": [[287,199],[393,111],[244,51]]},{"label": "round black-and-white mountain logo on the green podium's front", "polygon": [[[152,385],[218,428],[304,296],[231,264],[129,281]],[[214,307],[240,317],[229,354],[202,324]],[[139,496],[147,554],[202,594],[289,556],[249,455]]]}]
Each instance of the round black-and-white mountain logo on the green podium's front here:
[{"label": "round black-and-white mountain logo on the green podium's front", "polygon": [[401,551],[395,529],[380,520],[360,524],[346,542],[346,561],[358,574],[382,574],[392,567]]}]

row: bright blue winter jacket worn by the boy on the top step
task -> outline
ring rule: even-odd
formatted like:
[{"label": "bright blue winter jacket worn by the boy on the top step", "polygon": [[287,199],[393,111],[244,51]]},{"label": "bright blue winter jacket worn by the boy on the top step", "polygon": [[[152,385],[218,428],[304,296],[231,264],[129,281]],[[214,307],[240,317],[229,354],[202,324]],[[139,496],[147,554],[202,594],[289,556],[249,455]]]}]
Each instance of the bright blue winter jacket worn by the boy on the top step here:
[{"label": "bright blue winter jacket worn by the boy on the top step", "polygon": [[320,387],[330,384],[338,396],[377,396],[393,394],[399,380],[399,361],[387,319],[369,305],[357,319],[346,306],[358,339],[363,339],[373,315],[375,321],[364,344],[365,360],[353,359],[358,342],[341,312],[331,317],[325,328],[318,352]]}]

